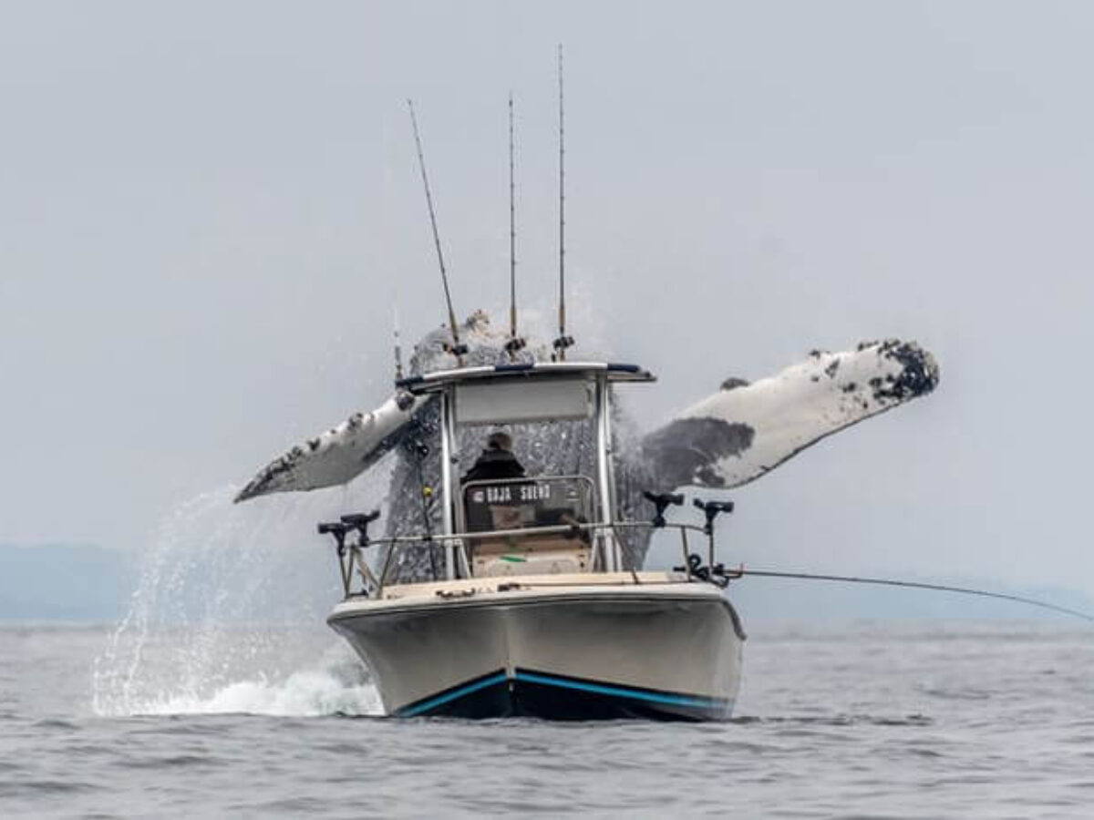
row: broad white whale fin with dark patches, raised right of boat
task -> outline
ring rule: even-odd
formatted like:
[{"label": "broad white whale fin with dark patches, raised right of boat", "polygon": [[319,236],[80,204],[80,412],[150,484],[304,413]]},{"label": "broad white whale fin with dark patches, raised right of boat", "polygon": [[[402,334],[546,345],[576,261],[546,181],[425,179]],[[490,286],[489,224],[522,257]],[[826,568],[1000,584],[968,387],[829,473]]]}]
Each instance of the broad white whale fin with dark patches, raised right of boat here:
[{"label": "broad white whale fin with dark patches, raised right of boat", "polygon": [[722,389],[642,442],[661,488],[746,484],[791,456],[871,415],[923,396],[939,366],[915,342],[863,342],[813,351],[781,373]]}]

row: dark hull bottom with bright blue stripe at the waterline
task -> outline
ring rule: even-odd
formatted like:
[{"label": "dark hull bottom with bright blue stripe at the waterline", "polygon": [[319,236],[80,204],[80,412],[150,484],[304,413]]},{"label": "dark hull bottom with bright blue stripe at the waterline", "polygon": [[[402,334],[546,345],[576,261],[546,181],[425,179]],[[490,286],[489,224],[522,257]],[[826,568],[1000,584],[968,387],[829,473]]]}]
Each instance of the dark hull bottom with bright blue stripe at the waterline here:
[{"label": "dark hull bottom with bright blue stripe at the waterline", "polygon": [[733,703],[677,692],[632,689],[582,678],[499,670],[408,704],[398,717],[539,717],[548,721],[724,721]]}]

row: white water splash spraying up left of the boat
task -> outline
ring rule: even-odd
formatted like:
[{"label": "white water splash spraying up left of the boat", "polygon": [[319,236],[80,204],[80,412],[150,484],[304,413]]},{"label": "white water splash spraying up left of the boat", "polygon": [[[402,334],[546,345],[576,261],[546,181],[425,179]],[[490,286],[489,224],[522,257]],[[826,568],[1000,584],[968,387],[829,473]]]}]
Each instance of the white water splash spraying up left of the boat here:
[{"label": "white water splash spraying up left of the boat", "polygon": [[341,587],[315,523],[380,506],[388,473],[241,505],[223,487],[181,504],[95,661],[94,711],[376,713],[366,670],[324,625]]}]

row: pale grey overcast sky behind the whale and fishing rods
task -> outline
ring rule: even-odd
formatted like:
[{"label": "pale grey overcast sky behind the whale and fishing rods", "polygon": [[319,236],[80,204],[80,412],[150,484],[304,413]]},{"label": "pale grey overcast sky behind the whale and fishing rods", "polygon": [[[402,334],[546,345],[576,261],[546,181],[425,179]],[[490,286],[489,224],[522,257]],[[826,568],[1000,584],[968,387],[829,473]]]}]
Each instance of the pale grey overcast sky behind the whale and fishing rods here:
[{"label": "pale grey overcast sky behind the whale and fishing rods", "polygon": [[1094,591],[1081,2],[4,2],[0,541],[147,549],[387,395],[393,302],[443,317],[407,97],[467,314],[505,300],[513,90],[554,309],[559,42],[572,330],[659,374],[643,424],[814,347],[941,362],[736,493],[736,554]]}]

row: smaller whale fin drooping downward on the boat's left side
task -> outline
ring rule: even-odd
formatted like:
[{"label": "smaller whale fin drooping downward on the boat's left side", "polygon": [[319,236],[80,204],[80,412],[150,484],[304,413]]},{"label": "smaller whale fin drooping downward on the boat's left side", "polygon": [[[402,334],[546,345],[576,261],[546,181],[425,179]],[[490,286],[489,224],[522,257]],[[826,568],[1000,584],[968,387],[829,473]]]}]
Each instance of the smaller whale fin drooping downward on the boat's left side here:
[{"label": "smaller whale fin drooping downward on the boat's left side", "polygon": [[371,413],[354,413],[270,461],[240,491],[236,503],[269,493],[345,484],[395,447],[407,422],[428,401],[397,393]]}]

